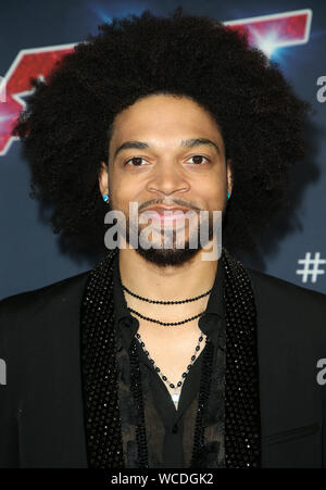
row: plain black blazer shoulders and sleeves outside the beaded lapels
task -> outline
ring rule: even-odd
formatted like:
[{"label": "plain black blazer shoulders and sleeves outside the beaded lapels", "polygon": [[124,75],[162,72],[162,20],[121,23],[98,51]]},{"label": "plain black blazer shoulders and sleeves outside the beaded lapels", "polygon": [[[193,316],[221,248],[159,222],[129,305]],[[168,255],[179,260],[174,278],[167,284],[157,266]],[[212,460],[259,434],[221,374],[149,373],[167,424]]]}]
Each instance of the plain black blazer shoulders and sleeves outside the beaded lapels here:
[{"label": "plain black blazer shoulders and sleeves outside the beaded lapels", "polygon": [[[247,271],[258,311],[262,466],[326,467],[326,385],[317,382],[325,294]],[[87,467],[79,307],[88,273],[0,302],[0,467]]]}]

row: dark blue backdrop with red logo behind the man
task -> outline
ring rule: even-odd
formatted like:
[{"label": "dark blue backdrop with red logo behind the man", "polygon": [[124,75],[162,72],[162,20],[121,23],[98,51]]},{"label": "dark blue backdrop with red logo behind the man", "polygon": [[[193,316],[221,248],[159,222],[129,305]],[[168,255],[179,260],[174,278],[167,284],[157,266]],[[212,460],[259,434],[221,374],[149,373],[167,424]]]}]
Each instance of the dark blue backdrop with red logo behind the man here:
[{"label": "dark blue backdrop with red logo behind the man", "polygon": [[315,114],[306,127],[309,152],[293,169],[294,211],[275,219],[249,267],[326,292],[326,3],[206,0],[14,0],[0,15],[0,299],[36,289],[95,266],[54,235],[48,214],[29,197],[28,162],[11,129],[32,91],[30,77],[46,77],[57,60],[96,35],[98,25],[128,13],[209,15],[248,29],[250,42],[279,66]]}]

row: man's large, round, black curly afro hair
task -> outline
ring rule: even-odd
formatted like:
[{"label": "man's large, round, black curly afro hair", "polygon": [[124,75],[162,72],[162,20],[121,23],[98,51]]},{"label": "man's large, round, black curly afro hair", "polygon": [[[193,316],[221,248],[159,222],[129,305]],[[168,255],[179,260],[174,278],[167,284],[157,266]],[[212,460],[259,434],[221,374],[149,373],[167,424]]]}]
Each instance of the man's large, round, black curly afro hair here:
[{"label": "man's large, round, black curly afro hair", "polygon": [[[114,17],[75,46],[35,87],[13,134],[30,163],[33,198],[52,205],[52,227],[86,248],[103,243],[108,210],[99,190],[117,113],[150,93],[187,96],[218,124],[234,187],[223,228],[229,251],[252,250],[288,206],[290,167],[304,159],[311,105],[300,100],[246,33],[149,10]],[[103,244],[104,248],[104,244]]]}]

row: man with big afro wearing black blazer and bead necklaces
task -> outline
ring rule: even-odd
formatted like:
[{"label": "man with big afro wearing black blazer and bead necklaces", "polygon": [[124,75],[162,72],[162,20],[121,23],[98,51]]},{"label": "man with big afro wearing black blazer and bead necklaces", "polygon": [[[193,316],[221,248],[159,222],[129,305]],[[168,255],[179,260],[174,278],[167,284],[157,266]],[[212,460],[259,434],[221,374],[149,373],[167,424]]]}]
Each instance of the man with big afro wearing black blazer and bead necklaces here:
[{"label": "man with big afro wearing black blazer and bead necklaces", "polygon": [[284,209],[309,105],[213,20],[101,30],[34,81],[15,128],[54,230],[108,248],[1,302],[0,465],[324,467],[325,297],[233,254]]}]

